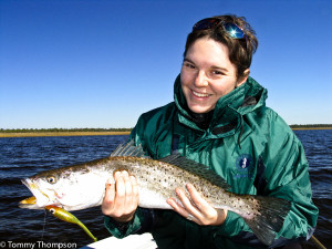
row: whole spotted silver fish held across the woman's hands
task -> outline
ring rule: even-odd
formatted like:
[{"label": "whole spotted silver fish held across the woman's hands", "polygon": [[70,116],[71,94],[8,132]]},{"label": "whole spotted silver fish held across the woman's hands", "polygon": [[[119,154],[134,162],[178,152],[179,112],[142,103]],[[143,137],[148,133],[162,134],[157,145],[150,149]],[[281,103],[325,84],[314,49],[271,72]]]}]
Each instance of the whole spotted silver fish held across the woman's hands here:
[{"label": "whole spotted silver fish held across the woman's hands", "polygon": [[291,203],[282,198],[231,193],[228,183],[206,165],[179,154],[153,159],[133,141],[118,145],[108,157],[38,173],[23,179],[35,198],[24,199],[19,206],[43,209],[53,205],[68,211],[100,206],[106,183],[108,179],[114,183],[117,170],[126,170],[136,177],[139,207],[172,209],[166,199],[173,197],[180,204],[175,189],[186,189],[186,184],[190,183],[216,209],[228,209],[242,217],[267,246],[273,242],[291,207]]}]

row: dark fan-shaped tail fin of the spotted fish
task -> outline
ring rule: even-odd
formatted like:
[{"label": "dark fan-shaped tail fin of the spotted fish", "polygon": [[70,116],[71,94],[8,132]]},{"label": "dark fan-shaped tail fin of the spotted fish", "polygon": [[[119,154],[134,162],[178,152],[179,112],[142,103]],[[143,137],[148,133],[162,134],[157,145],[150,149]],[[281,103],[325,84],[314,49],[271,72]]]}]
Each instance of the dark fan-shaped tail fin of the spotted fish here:
[{"label": "dark fan-shaped tail fin of the spotted fish", "polygon": [[258,239],[270,246],[276,238],[276,234],[282,228],[291,203],[269,196],[256,196],[255,199],[259,201],[258,215],[250,218],[243,217],[243,219]]}]

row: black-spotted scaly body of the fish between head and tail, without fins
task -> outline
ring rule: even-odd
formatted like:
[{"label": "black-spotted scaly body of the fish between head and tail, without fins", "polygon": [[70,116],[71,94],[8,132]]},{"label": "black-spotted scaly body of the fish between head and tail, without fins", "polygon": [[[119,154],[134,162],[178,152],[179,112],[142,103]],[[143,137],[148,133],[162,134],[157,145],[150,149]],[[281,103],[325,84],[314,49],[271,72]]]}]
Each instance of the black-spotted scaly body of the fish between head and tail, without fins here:
[{"label": "black-spotted scaly body of the fish between head and tail, without fins", "polygon": [[[239,198],[238,195],[224,190],[201,176],[188,173],[187,170],[168,163],[129,156],[110,157],[107,159],[102,159],[101,163],[105,167],[105,174],[108,174],[110,176],[116,170],[127,170],[137,178],[139,193],[145,193],[145,189],[148,189],[149,195],[152,193],[162,195],[164,198],[162,200],[163,204],[166,204],[166,199],[169,197],[177,198],[174,191],[175,188],[183,187],[186,190],[185,185],[191,183],[215,208],[227,208],[235,212],[248,216],[256,215],[256,208],[257,206],[259,207],[259,201],[256,199]],[[98,165],[92,164],[90,167],[95,168]],[[141,199],[154,200],[151,196],[144,195],[141,195]],[[253,201],[256,206],[251,206],[250,204],[246,205],[248,201]],[[153,201],[147,205],[147,207],[159,207],[163,206],[163,204],[155,204],[155,201]]]}]

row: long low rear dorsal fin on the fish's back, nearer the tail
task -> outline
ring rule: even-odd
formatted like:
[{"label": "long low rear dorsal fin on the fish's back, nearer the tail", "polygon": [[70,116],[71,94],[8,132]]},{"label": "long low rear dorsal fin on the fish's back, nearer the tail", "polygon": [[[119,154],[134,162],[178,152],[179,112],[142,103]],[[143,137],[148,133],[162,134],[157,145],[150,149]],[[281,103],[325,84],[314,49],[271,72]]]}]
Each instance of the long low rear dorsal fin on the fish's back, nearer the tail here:
[{"label": "long low rear dorsal fin on the fish's back, nearer the tail", "polygon": [[230,189],[229,184],[217,173],[210,170],[206,165],[188,159],[180,154],[173,154],[158,160],[180,167],[224,189]]}]

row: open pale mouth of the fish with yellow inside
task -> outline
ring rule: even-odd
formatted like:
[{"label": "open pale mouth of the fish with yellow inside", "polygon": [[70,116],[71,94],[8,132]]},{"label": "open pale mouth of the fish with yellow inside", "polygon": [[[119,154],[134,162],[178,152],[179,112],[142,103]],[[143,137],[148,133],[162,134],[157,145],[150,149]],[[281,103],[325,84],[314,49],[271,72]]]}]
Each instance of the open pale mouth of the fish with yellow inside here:
[{"label": "open pale mouth of the fish with yellow inside", "polygon": [[19,207],[28,209],[43,209],[50,200],[49,196],[41,191],[39,187],[29,178],[22,179],[22,184],[29,188],[33,196],[21,200],[19,203]]}]

